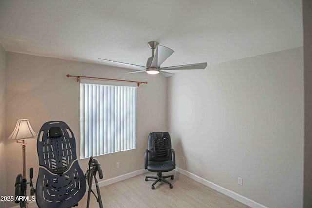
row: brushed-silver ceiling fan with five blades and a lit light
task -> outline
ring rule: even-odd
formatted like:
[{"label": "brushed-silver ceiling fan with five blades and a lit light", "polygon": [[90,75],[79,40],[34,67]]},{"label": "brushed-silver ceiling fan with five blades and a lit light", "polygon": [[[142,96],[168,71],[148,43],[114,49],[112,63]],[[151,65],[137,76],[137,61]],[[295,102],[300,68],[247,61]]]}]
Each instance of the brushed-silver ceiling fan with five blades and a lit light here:
[{"label": "brushed-silver ceiling fan with five blades and a lit light", "polygon": [[[160,72],[165,77],[173,76],[173,73],[166,72],[166,70],[183,70],[183,69],[205,69],[207,63],[195,63],[195,64],[187,64],[187,65],[180,65],[180,66],[169,66],[169,67],[160,67],[160,65],[168,58],[174,50],[167,48],[165,46],[159,45],[156,41],[148,42],[149,47],[152,49],[152,56],[147,59],[146,66],[139,66],[136,64],[130,63],[123,63],[118,61],[107,60],[103,58],[98,58],[100,60],[104,60],[109,63],[115,63],[120,66],[128,66],[136,68],[139,71],[134,72],[127,72],[122,74],[129,74],[129,73],[139,73],[139,72],[147,72],[149,74],[155,75]],[[154,53],[154,50],[156,52]]]}]

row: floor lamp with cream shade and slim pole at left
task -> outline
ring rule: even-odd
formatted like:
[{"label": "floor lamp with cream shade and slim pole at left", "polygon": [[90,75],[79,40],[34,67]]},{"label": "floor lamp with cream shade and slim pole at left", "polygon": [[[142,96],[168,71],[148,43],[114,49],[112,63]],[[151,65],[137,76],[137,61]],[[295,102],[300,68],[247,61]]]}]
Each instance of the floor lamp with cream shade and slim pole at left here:
[{"label": "floor lamp with cream shade and slim pole at left", "polygon": [[[15,128],[11,135],[8,137],[9,140],[16,140],[16,143],[21,143],[21,148],[23,151],[23,176],[22,180],[20,181],[20,193],[19,196],[26,196],[26,189],[27,189],[27,179],[26,179],[26,143],[25,139],[34,138],[37,136],[37,133],[33,130],[33,128],[30,126],[28,119],[20,119],[16,122]],[[31,168],[32,170],[32,168]],[[30,178],[30,186],[32,187],[32,171],[31,171],[31,178]],[[20,177],[20,176],[18,176]],[[17,177],[17,178],[18,178]],[[21,179],[21,177],[20,177]],[[33,191],[33,188],[31,189],[31,193]],[[15,200],[15,203],[20,202],[20,207],[28,208],[28,202],[27,200]]]}]

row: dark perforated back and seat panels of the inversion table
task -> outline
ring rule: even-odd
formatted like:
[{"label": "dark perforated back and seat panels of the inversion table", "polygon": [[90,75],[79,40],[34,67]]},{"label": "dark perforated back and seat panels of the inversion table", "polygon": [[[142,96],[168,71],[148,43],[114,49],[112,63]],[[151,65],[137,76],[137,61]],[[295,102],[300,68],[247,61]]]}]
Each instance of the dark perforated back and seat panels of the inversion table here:
[{"label": "dark perforated back and seat panels of the inversion table", "polygon": [[75,137],[63,121],[43,124],[37,139],[39,208],[69,208],[85,194],[85,176],[78,164]]}]

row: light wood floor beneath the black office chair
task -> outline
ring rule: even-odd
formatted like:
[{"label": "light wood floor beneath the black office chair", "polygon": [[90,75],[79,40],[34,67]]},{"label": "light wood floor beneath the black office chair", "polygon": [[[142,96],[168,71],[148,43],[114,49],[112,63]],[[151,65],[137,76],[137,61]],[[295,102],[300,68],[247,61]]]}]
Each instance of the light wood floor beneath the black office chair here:
[{"label": "light wood floor beneath the black office chair", "polygon": [[[250,208],[179,172],[172,171],[169,174],[174,175],[174,180],[168,178],[173,189],[163,182],[158,182],[152,190],[154,179],[145,181],[146,175],[156,176],[156,173],[152,172],[101,187],[104,208]],[[78,207],[86,207],[87,195],[86,193]],[[92,194],[90,208],[98,207]]]}]

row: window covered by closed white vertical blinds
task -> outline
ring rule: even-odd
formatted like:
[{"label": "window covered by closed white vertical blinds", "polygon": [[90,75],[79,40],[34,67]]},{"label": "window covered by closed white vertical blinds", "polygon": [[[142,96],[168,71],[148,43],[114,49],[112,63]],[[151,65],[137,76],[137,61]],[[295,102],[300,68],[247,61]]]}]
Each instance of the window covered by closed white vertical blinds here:
[{"label": "window covered by closed white vertical blinds", "polygon": [[81,79],[80,158],[137,146],[137,85],[113,84]]}]

